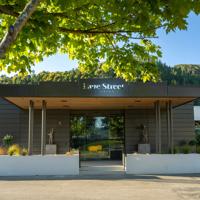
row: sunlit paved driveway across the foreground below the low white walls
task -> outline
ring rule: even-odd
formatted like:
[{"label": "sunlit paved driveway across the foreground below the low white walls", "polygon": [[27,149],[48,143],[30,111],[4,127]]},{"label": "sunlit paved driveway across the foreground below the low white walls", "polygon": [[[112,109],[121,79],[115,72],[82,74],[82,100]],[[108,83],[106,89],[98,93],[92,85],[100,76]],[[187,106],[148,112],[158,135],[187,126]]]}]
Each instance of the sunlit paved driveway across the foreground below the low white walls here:
[{"label": "sunlit paved driveway across the foreground below the low white walls", "polygon": [[0,200],[192,200],[200,199],[200,176],[102,175],[1,178]]}]

